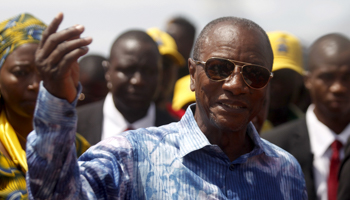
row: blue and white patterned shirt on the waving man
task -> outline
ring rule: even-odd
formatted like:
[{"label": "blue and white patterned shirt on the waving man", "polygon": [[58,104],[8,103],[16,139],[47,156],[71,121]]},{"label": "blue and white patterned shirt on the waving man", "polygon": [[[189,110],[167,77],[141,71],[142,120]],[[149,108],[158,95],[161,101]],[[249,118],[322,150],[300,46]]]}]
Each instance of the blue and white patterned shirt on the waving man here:
[{"label": "blue and white patterned shirt on the waving man", "polygon": [[179,122],[115,135],[77,160],[75,102],[41,84],[27,142],[29,198],[307,199],[298,162],[251,123],[254,149],[231,162],[201,132],[191,108]]}]

